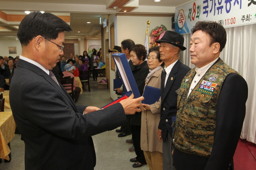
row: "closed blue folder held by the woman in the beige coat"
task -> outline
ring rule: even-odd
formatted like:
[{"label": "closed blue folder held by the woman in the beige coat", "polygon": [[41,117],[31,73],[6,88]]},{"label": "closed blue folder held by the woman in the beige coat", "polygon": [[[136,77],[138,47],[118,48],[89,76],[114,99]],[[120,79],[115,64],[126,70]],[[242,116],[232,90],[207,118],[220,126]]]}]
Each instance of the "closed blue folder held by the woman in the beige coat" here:
[{"label": "closed blue folder held by the woman in the beige coat", "polygon": [[144,100],[141,103],[152,105],[159,100],[160,96],[160,89],[146,85],[143,93]]}]

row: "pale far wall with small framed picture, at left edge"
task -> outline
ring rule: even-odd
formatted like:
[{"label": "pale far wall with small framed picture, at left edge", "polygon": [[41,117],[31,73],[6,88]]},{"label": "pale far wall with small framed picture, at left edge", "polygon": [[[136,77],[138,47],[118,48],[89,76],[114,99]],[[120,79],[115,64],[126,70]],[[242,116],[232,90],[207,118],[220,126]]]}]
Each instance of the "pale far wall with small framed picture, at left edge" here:
[{"label": "pale far wall with small framed picture, at left edge", "polygon": [[[17,54],[9,54],[8,47],[16,47]],[[0,40],[0,56],[12,56],[16,57],[17,55],[21,55],[21,45],[20,41],[16,40]]]}]

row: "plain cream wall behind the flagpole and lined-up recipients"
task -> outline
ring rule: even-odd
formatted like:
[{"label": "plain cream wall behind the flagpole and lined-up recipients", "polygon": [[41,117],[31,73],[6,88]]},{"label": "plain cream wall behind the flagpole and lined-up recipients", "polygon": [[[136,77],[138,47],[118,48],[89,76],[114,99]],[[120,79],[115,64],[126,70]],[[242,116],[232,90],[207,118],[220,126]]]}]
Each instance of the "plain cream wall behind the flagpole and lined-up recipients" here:
[{"label": "plain cream wall behind the flagpole and lined-up recipients", "polygon": [[[172,30],[172,17],[154,17],[154,16],[116,16],[109,18],[109,25],[115,22],[115,45],[121,46],[121,42],[131,39],[135,44],[145,44],[147,21],[151,22],[150,31],[156,26],[163,24],[168,30]],[[110,81],[114,79],[115,72],[110,70]],[[110,89],[113,89],[111,83]],[[110,90],[110,97],[117,99],[114,91]]]}]

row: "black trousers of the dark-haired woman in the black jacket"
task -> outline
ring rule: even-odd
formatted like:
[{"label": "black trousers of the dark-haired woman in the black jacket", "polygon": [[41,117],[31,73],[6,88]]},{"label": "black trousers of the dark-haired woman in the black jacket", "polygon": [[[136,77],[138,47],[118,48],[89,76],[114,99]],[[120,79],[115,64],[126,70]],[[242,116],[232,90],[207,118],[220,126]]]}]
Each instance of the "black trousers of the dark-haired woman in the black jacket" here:
[{"label": "black trousers of the dark-haired woman in the black jacket", "polygon": [[131,125],[132,130],[132,140],[136,153],[136,160],[142,164],[146,164],[143,150],[140,148],[140,126]]}]

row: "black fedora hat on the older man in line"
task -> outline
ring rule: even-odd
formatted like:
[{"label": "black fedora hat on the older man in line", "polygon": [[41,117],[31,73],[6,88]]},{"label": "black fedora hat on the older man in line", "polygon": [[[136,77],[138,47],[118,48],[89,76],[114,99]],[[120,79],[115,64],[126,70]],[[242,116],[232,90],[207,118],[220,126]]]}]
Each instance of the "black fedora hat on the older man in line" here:
[{"label": "black fedora hat on the older man in line", "polygon": [[161,40],[156,40],[157,43],[166,42],[179,47],[182,51],[187,49],[183,46],[184,38],[178,32],[166,31]]}]

